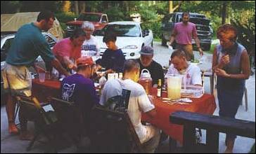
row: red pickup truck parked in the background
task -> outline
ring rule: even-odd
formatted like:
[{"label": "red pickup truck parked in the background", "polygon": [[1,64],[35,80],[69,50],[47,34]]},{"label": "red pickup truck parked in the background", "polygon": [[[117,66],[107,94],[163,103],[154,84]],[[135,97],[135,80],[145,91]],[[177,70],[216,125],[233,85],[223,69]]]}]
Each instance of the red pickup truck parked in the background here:
[{"label": "red pickup truck parked in the background", "polygon": [[77,27],[82,27],[84,21],[94,24],[96,30],[102,29],[108,24],[108,15],[104,13],[81,13],[78,18],[68,22],[65,29],[65,36],[70,36]]}]

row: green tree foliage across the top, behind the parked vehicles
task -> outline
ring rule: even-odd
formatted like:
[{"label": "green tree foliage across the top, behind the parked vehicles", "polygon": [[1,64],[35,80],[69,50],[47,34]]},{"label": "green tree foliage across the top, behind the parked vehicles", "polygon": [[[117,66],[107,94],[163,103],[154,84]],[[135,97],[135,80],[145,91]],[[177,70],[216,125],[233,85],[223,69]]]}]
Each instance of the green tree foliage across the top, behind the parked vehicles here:
[{"label": "green tree foliage across the top, behind the parked vehicles", "polygon": [[[61,13],[63,1],[1,1],[1,13],[49,9],[56,13],[60,25],[65,28],[66,22],[77,18],[74,14],[74,1],[70,2],[72,13],[66,14]],[[129,15],[140,13],[145,27],[153,30],[154,38],[161,37],[161,20],[169,10],[169,1],[155,1],[155,4],[153,1],[85,1],[85,3],[86,11],[107,13],[110,22],[131,20]],[[174,6],[177,6],[178,3],[179,1],[173,1]],[[222,23],[223,3],[224,1],[182,1],[181,7],[175,11],[188,11],[206,15],[212,22],[215,36],[217,28]],[[227,4],[227,22],[239,19],[241,25],[246,25],[248,20],[243,17],[255,15],[255,1],[225,1],[225,3]],[[251,22],[255,23],[255,20]],[[250,25],[250,27],[255,27],[255,24]]]}]

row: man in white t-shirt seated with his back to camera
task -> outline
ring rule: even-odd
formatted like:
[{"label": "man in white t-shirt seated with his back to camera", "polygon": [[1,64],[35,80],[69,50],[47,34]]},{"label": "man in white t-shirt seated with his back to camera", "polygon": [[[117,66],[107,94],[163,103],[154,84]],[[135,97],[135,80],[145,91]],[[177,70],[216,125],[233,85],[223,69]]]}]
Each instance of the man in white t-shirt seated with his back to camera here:
[{"label": "man in white t-shirt seated with his back to camera", "polygon": [[108,80],[105,83],[100,104],[103,105],[110,97],[121,95],[122,89],[131,90],[128,106],[129,118],[141,144],[143,144],[145,153],[154,153],[159,144],[160,130],[153,125],[143,125],[141,123],[141,112],[146,113],[150,118],[154,118],[156,110],[142,85],[137,83],[139,70],[140,66],[136,60],[128,59],[124,62],[123,78]]}]

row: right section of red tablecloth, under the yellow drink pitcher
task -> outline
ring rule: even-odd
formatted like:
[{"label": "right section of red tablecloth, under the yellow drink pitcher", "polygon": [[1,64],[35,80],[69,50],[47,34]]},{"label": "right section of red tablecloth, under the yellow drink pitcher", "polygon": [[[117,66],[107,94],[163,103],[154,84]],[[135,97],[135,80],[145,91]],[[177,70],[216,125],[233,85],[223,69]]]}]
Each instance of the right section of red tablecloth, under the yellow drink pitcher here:
[{"label": "right section of red tablecloth, under the yellow drink pitcher", "polygon": [[[163,93],[163,97],[166,97],[166,95],[166,93]],[[143,121],[155,125],[172,137],[172,139],[175,139],[182,144],[183,126],[170,123],[169,116],[175,111],[190,111],[212,115],[216,109],[215,97],[212,94],[203,94],[203,97],[191,99],[193,101],[191,104],[167,104],[162,102],[161,98],[154,97],[153,103],[155,104],[157,115],[153,120],[150,120],[146,114],[143,114],[142,119]]]}]

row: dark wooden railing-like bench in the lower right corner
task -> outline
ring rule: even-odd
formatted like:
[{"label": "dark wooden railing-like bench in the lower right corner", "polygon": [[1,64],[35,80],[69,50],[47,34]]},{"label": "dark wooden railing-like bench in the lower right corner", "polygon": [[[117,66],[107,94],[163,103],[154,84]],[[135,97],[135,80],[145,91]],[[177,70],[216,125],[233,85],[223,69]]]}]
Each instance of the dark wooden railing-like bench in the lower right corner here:
[{"label": "dark wooden railing-like bench in the lower right corner", "polygon": [[[220,118],[187,111],[177,111],[169,116],[171,123],[184,125],[185,153],[218,153],[219,132],[232,133],[255,139],[255,122],[233,118]],[[196,127],[206,130],[206,144],[196,144]]]}]

